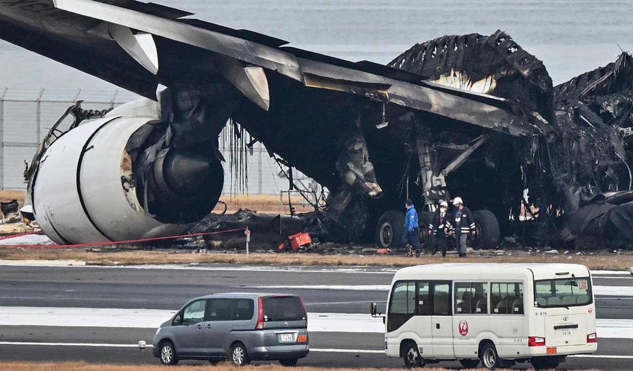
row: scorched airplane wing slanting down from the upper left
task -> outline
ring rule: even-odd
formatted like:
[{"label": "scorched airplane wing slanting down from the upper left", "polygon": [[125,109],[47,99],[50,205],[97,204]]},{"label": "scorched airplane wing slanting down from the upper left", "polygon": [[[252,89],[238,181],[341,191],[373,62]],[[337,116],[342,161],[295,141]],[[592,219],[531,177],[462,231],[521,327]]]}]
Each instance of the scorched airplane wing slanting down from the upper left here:
[{"label": "scorched airplane wing slanting down from the upper left", "polygon": [[196,85],[223,77],[267,110],[266,73],[278,73],[306,88],[361,95],[514,136],[543,130],[511,113],[505,99],[183,18],[190,15],[134,0],[0,0],[0,38],[151,99],[158,84]]}]

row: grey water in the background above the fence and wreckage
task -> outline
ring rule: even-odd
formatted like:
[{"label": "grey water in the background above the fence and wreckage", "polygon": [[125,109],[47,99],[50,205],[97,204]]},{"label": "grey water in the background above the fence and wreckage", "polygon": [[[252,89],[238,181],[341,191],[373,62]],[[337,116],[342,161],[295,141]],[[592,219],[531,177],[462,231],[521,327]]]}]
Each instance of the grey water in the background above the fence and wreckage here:
[{"label": "grey water in the background above the fence and wreckage", "polygon": [[[387,63],[416,42],[505,30],[555,83],[633,49],[630,0],[153,0],[339,58]],[[112,85],[0,41],[0,87],[111,90]]]}]

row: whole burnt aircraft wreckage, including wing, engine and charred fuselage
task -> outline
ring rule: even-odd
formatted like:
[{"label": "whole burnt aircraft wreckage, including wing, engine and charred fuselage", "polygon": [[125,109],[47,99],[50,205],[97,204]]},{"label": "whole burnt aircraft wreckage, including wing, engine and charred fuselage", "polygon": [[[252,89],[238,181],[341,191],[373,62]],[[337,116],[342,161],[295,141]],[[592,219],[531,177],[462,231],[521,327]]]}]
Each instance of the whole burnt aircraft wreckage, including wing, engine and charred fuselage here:
[{"label": "whole burnt aircraft wreckage, including wing, engine and charred fuselage", "polygon": [[513,234],[632,243],[628,54],[553,87],[501,31],[417,44],[383,66],[185,16],[132,0],[0,2],[2,39],[145,97],[71,107],[71,129],[55,126],[35,155],[28,191],[57,243],[191,228],[222,193],[227,122],[330,190],[312,219],[325,238],[395,246],[406,198],[425,222],[460,195],[478,247]]}]

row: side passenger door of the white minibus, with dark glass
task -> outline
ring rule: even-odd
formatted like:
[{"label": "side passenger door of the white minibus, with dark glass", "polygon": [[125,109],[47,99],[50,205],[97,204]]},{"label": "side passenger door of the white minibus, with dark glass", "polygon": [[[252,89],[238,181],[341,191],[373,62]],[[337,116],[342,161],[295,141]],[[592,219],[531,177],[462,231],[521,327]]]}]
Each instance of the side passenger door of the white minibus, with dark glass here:
[{"label": "side passenger door of the white minibus, with dark glass", "polygon": [[454,358],[451,281],[431,281],[431,293],[433,297],[431,317],[433,356],[434,358]]}]

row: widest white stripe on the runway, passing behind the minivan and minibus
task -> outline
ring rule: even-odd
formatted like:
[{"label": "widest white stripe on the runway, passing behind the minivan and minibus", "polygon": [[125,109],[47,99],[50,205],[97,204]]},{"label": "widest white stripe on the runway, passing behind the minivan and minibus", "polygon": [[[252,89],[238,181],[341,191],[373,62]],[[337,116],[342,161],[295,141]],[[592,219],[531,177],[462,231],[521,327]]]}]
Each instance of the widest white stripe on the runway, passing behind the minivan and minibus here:
[{"label": "widest white stripe on the runway, passing behind the minivan and minibus", "polygon": [[[120,327],[156,329],[175,310],[116,308],[0,307],[0,325]],[[633,319],[598,319],[598,338],[633,339]],[[382,319],[368,313],[308,313],[308,331],[385,331]]]}]

